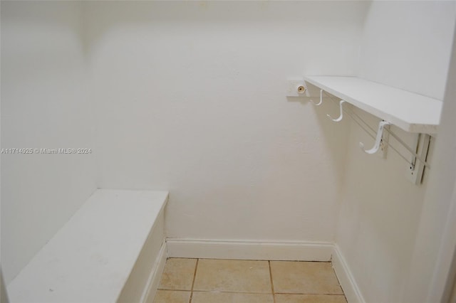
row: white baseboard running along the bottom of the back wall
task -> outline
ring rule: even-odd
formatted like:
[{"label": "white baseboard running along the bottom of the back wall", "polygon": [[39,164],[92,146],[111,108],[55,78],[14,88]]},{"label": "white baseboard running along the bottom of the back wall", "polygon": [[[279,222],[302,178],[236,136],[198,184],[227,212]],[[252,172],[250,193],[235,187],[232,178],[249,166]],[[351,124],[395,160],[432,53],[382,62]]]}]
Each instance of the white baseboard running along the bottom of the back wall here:
[{"label": "white baseboard running along the bottom of the back wall", "polygon": [[333,244],[167,238],[169,257],[239,260],[329,261]]}]

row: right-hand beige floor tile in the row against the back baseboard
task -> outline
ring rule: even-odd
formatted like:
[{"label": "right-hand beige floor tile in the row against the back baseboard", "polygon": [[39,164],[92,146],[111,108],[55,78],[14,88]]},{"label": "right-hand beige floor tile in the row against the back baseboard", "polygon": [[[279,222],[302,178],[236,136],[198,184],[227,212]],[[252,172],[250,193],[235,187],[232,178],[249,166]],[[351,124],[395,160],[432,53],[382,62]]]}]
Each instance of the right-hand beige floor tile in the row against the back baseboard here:
[{"label": "right-hand beige floor tile in the row against the back baseboard", "polygon": [[343,294],[330,262],[271,261],[274,292]]}]

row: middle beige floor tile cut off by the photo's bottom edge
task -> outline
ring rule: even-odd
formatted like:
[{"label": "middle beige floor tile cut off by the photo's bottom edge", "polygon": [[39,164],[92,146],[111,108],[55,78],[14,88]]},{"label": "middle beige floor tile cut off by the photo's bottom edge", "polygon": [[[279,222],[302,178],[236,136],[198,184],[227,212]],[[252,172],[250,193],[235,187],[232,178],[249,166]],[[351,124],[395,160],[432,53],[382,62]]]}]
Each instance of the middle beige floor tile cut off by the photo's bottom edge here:
[{"label": "middle beige floor tile cut off by the photo's bottom edge", "polygon": [[192,303],[274,303],[272,294],[193,292]]}]

